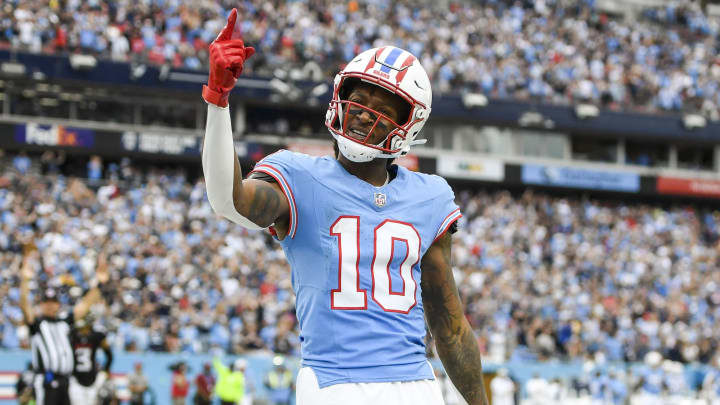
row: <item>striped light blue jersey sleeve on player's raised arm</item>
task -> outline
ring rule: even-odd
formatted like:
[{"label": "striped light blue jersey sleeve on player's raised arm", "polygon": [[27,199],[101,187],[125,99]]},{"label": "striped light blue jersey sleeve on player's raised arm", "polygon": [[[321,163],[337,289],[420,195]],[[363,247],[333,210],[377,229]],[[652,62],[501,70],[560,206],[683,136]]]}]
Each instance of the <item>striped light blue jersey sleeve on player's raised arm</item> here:
[{"label": "striped light blue jersey sleeve on player's raised arm", "polygon": [[298,170],[299,165],[295,162],[294,153],[288,150],[280,150],[259,161],[255,165],[255,168],[248,174],[262,173],[268,175],[280,185],[280,189],[282,189],[283,194],[285,194],[288,206],[290,207],[290,226],[288,231],[290,238],[295,238],[295,232],[297,231],[298,211],[293,190],[295,183],[298,181]]}]

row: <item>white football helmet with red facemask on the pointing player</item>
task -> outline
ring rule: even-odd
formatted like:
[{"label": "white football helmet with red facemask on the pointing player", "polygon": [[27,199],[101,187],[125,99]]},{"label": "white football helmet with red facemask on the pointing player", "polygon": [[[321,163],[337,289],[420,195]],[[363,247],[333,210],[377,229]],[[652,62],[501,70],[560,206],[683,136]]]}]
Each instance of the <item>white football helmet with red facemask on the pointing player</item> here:
[{"label": "white football helmet with red facemask on the pointing player", "polygon": [[[349,88],[352,87],[348,84],[359,81],[380,86],[405,100],[410,105],[407,121],[395,123],[380,112],[347,101]],[[395,158],[406,155],[410,146],[425,143],[425,140],[415,140],[415,137],[430,117],[431,104],[430,79],[413,54],[394,46],[374,48],[357,55],[335,76],[325,126],[337,141],[340,153],[353,162],[369,162],[378,157]],[[345,133],[350,105],[364,108],[376,117],[364,141]],[[377,145],[366,142],[381,118],[392,122],[396,128]]]}]

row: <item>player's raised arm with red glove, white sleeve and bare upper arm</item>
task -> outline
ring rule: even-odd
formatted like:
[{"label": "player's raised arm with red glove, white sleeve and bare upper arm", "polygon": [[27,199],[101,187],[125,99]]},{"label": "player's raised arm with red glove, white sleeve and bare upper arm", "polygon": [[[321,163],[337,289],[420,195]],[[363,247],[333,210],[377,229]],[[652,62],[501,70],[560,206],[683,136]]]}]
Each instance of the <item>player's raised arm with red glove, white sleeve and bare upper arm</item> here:
[{"label": "player's raised arm with red glove, white sleeve and bare upper arm", "polygon": [[208,200],[216,214],[250,229],[266,228],[289,215],[290,207],[276,183],[242,179],[232,137],[228,96],[242,72],[243,63],[255,53],[241,39],[233,38],[237,10],[210,44],[210,76],[203,86],[208,116],[203,139],[202,166]]}]

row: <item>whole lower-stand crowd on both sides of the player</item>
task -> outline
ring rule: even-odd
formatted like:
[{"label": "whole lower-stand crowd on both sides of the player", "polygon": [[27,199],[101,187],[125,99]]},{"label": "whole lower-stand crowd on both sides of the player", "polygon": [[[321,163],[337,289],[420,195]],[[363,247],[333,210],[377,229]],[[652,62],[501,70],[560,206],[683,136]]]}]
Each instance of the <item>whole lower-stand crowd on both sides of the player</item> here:
[{"label": "whole lower-stand crowd on both sides of the player", "polygon": [[[96,252],[109,254],[117,288],[96,315],[116,349],[298,354],[280,245],[216,217],[201,179],[98,157],[80,179],[52,152],[3,161],[0,347],[28,344],[17,275],[34,242],[35,287],[62,287],[65,300],[87,286]],[[490,361],[720,355],[720,212],[531,191],[457,197],[455,277]]]}]

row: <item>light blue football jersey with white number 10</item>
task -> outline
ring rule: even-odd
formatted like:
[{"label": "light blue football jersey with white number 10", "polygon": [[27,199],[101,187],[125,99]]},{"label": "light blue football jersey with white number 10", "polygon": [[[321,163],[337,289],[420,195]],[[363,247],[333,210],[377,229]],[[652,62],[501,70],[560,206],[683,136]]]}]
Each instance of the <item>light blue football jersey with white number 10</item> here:
[{"label": "light blue football jersey with white number 10", "polygon": [[320,387],[433,379],[420,261],[460,216],[441,177],[403,167],[383,187],[331,157],[289,151],[255,166],[290,204],[282,240],[297,296],[303,366]]}]

